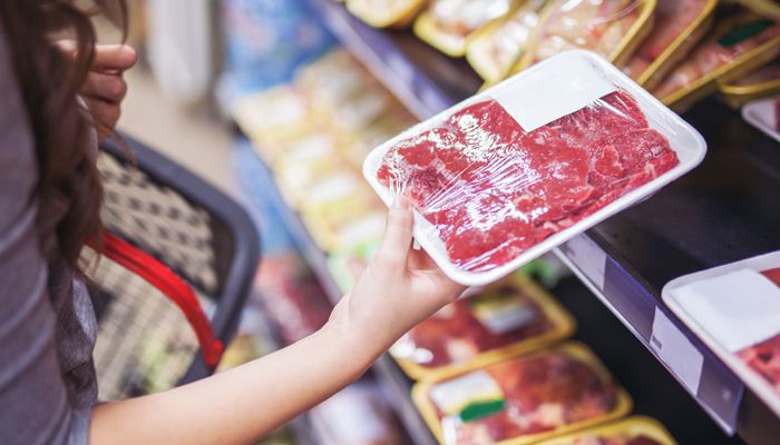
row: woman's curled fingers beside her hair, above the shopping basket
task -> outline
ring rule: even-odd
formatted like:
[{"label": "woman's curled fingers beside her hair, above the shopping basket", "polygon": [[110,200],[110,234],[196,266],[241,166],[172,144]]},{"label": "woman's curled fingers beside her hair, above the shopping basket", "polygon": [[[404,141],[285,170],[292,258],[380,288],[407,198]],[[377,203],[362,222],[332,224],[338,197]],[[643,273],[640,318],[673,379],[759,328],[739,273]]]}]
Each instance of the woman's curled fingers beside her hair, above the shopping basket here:
[{"label": "woman's curled fingers beside her hair, above the shopping basket", "polygon": [[[60,40],[57,46],[75,57],[76,43]],[[81,88],[81,98],[87,103],[103,140],[114,130],[121,116],[121,101],[127,95],[124,72],[136,63],[136,51],[127,44],[96,44],[95,58],[87,80]]]}]

